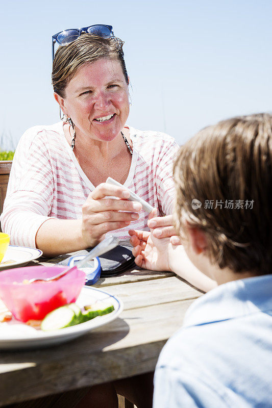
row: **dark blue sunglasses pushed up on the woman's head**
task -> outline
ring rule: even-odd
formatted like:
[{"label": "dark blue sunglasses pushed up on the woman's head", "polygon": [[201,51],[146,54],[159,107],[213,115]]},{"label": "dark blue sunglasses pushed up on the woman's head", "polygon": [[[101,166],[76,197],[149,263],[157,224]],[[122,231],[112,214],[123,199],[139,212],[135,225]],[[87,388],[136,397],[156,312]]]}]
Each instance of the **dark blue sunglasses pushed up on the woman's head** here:
[{"label": "dark blue sunglasses pushed up on the woman's head", "polygon": [[94,34],[99,37],[113,37],[113,30],[111,25],[93,24],[89,27],[82,27],[81,29],[68,29],[60,31],[52,36],[52,61],[54,61],[54,45],[57,42],[59,45],[67,45],[81,36],[81,34]]}]

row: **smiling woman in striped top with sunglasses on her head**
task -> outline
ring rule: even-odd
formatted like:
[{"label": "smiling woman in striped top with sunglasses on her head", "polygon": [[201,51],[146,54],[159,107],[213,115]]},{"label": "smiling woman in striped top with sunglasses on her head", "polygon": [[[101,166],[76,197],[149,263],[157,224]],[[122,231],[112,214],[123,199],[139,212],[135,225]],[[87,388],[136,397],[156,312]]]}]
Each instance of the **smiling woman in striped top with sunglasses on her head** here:
[{"label": "smiling woman in striped top with sunglasses on her head", "polygon": [[[53,36],[62,41],[52,84],[63,121],[31,127],[15,152],[2,229],[12,244],[48,257],[92,247],[108,233],[129,240],[129,228],[146,229],[149,215],[127,200],[128,189],[154,214],[172,212],[178,146],[168,135],[126,125],[129,77],[123,42],[110,28]],[[106,184],[108,176],[123,188]]]}]

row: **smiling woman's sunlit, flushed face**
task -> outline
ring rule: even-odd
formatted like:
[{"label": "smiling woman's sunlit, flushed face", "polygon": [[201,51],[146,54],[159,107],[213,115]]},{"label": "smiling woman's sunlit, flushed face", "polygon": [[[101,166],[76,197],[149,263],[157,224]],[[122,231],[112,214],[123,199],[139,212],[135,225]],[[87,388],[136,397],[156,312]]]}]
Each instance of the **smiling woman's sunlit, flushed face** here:
[{"label": "smiling woman's sunlit, flushed face", "polygon": [[117,60],[103,58],[82,65],[61,99],[77,136],[111,141],[129,116],[128,85]]}]

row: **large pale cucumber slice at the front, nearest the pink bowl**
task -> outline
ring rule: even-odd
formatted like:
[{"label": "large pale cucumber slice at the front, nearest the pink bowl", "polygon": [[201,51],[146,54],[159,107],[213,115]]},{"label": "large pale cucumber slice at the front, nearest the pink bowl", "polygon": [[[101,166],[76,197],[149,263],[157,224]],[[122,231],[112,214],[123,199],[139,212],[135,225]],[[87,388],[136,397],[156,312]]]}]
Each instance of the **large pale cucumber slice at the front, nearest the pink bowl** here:
[{"label": "large pale cucumber slice at the front, nearest the pink bowl", "polygon": [[41,322],[41,329],[45,331],[58,330],[59,328],[73,326],[78,323],[78,314],[73,310],[73,307],[66,304],[48,313]]}]

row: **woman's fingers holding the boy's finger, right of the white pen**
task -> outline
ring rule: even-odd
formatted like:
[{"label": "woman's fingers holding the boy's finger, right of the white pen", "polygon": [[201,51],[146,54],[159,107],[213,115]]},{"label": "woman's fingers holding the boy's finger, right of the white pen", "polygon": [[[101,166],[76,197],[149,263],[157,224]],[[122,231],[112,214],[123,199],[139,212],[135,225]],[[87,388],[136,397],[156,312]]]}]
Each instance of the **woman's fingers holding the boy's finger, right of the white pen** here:
[{"label": "woman's fingers holding the boy's finger, right of the white pen", "polygon": [[181,241],[174,226],[174,217],[166,215],[165,217],[155,217],[149,219],[147,225],[153,228],[153,235],[156,238],[170,238],[173,245],[180,245]]}]

